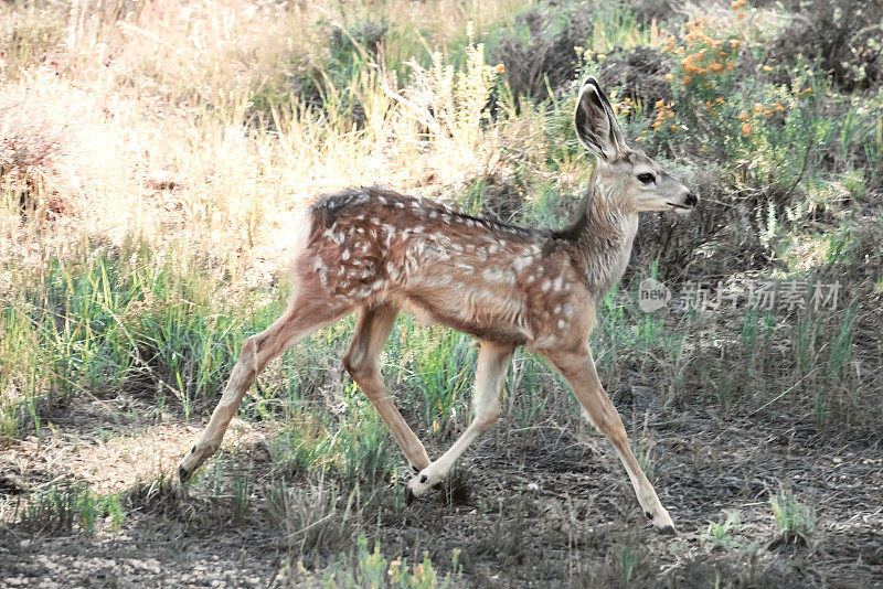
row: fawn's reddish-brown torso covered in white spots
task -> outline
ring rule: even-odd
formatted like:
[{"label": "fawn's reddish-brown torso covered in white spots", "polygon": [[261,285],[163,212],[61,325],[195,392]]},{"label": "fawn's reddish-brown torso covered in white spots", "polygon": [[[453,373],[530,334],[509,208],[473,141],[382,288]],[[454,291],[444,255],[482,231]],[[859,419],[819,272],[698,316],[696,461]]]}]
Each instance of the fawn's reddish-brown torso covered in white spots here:
[{"label": "fawn's reddish-brown torso covered in white spots", "polygon": [[549,232],[377,188],[326,196],[309,222],[295,272],[317,297],[347,306],[392,302],[518,345],[542,347],[571,328],[587,330],[593,301]]}]

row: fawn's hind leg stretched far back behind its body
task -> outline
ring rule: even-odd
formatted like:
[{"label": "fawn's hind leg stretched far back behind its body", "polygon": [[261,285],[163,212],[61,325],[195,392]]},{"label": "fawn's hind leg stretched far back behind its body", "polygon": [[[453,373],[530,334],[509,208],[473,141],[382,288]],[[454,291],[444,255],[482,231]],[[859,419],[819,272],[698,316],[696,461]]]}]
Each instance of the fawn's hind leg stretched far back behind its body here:
[{"label": "fawn's hind leg stretched far back behind its body", "polygon": [[[310,292],[310,289],[301,289]],[[178,465],[181,482],[187,482],[193,472],[217,451],[231,419],[242,403],[245,392],[267,363],[289,346],[317,329],[332,323],[351,311],[343,303],[329,303],[307,294],[297,296],[283,317],[269,328],[252,335],[243,343],[240,358],[230,375],[224,394],[212,413],[209,425],[196,445]]]}]

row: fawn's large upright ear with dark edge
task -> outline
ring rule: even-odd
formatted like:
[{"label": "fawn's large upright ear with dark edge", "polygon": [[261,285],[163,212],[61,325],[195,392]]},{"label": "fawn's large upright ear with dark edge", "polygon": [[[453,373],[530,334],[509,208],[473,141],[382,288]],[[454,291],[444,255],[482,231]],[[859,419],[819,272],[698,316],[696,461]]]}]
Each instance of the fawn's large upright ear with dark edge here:
[{"label": "fawn's large upright ear with dark edge", "polygon": [[626,142],[614,109],[593,76],[583,81],[573,120],[579,142],[598,158],[613,161],[625,152]]}]

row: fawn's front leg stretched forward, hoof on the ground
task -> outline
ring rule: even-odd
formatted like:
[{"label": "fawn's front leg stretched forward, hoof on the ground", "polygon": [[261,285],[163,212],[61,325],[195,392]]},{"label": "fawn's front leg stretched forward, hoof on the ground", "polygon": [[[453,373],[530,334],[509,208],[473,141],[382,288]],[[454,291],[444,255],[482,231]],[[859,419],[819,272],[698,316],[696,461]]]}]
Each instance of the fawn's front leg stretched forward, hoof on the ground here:
[{"label": "fawn's front leg stretched forward, hoof on the ground", "polygon": [[595,427],[616,448],[645,515],[652,520],[657,529],[674,534],[674,524],[669,517],[669,512],[659,502],[653,485],[647,480],[635,454],[631,453],[623,419],[604,392],[588,349],[578,352],[543,351],[543,353],[571,383],[573,394]]}]

